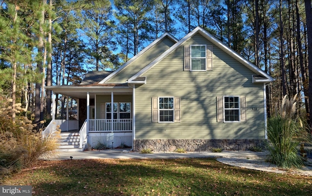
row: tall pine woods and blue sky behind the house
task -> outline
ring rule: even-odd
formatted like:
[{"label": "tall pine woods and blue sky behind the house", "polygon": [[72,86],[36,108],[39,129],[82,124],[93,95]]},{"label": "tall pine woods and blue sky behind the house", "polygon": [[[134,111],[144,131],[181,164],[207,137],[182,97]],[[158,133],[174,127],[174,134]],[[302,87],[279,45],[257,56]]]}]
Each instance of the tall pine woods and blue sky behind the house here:
[{"label": "tall pine woods and blue sky behind the house", "polygon": [[[44,86],[116,70],[163,33],[180,39],[196,26],[275,78],[266,89],[268,117],[285,95],[297,94],[298,114],[310,125],[311,0],[2,0],[1,100],[21,103],[19,115],[34,122],[49,120]],[[57,95],[57,103],[62,118],[76,101]]]}]

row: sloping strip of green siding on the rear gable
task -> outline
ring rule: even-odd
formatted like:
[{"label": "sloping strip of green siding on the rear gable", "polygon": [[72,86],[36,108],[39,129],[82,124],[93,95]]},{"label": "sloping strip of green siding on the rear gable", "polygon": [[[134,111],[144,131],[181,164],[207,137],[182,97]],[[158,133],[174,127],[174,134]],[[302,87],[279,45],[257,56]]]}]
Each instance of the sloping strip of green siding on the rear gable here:
[{"label": "sloping strip of green siding on the rear gable", "polygon": [[115,77],[111,78],[108,83],[125,83],[129,78],[143,69],[146,65],[160,56],[163,52],[168,50],[173,44],[171,39],[165,38],[161,40],[157,45],[146,51],[142,56],[138,57],[128,67],[123,69]]}]

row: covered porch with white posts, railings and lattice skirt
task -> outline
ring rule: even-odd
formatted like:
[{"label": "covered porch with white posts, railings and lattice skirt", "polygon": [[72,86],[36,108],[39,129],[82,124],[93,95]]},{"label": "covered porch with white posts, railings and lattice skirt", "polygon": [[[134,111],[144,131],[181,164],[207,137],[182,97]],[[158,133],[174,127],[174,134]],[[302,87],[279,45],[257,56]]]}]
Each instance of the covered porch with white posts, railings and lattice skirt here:
[{"label": "covered porch with white posts, railings and lattice skirt", "polygon": [[[133,146],[134,89],[128,84],[49,86],[52,94],[52,120],[42,132],[43,137],[53,134],[57,126],[61,133],[78,132],[79,148],[95,148],[104,144],[112,148]],[[77,117],[56,119],[56,94],[77,100]],[[113,107],[112,107],[113,106]],[[69,140],[69,139],[68,139]]]}]

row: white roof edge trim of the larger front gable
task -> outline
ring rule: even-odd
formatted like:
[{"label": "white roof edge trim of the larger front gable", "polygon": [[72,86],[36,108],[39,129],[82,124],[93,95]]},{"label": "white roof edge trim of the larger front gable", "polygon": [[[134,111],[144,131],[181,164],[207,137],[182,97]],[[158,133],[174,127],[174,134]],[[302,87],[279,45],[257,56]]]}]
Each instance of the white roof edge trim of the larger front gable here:
[{"label": "white roof edge trim of the larger front gable", "polygon": [[146,65],[143,69],[141,69],[139,72],[137,72],[134,76],[128,79],[128,83],[133,83],[136,78],[141,77],[144,73],[146,73],[148,70],[150,70],[152,67],[154,67],[158,62],[160,62],[162,59],[166,58],[168,55],[170,55],[172,52],[174,52],[179,46],[181,46],[183,43],[185,43],[188,39],[192,38],[196,33],[199,33],[204,38],[208,39],[212,43],[214,43],[217,47],[219,47],[221,50],[226,52],[228,55],[245,65],[247,68],[252,70],[255,74],[258,74],[259,76],[262,76],[264,78],[261,78],[261,80],[254,79],[254,82],[272,82],[274,78],[272,78],[270,75],[265,73],[263,70],[255,66],[253,63],[251,63],[249,60],[243,58],[241,55],[236,53],[233,49],[231,49],[229,46],[225,45],[220,40],[216,39],[213,35],[205,31],[201,27],[196,27],[192,32],[187,34],[184,38],[176,42],[171,48],[169,48],[166,52],[161,54],[159,57],[154,59],[151,63]]}]

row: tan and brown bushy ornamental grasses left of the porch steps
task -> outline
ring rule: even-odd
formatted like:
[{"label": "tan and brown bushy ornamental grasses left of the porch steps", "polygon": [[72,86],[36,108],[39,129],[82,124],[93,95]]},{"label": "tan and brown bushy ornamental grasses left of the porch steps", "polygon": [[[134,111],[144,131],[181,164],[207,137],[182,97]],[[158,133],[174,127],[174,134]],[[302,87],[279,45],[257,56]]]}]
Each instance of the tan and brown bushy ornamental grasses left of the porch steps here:
[{"label": "tan and brown bushy ornamental grasses left of the porch steps", "polygon": [[0,184],[6,176],[30,166],[40,156],[54,155],[58,148],[55,136],[59,130],[54,136],[42,138],[42,128],[38,131],[37,125],[28,118],[17,115],[13,120],[13,112],[20,114],[24,110],[21,104],[16,104],[13,109],[11,100],[0,98]]}]

